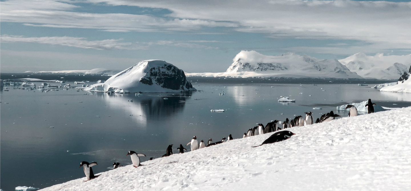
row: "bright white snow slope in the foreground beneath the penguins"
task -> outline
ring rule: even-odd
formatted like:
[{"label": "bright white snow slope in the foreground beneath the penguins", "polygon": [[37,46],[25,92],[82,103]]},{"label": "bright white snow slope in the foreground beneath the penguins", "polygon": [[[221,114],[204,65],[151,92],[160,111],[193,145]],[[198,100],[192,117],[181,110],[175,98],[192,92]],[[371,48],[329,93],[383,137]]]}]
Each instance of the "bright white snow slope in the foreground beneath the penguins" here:
[{"label": "bright white snow slope in the foreground beneath the penguins", "polygon": [[251,147],[272,133],[235,139],[43,190],[411,190],[410,127],[411,108],[345,117],[287,129],[296,135],[279,143]]}]

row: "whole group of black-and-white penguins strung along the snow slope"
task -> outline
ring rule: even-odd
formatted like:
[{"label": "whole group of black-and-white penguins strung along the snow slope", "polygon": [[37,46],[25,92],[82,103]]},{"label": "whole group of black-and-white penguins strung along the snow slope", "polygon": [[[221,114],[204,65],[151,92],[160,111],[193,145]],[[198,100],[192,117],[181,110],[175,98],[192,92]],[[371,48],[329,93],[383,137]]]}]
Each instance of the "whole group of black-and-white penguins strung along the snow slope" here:
[{"label": "whole group of black-and-white penguins strung along the snow slope", "polygon": [[[365,105],[365,107],[367,108],[368,113],[374,113],[374,103],[371,102],[371,99],[368,99],[368,103]],[[349,117],[353,117],[353,116],[357,116],[358,115],[358,110],[355,106],[353,105],[347,105],[345,109],[350,109],[348,116]],[[330,111],[330,113],[326,113],[321,115],[320,118],[317,118],[317,120],[314,122],[313,117],[312,117],[312,112],[305,112],[305,117],[302,117],[301,115],[294,117],[293,120],[289,120],[288,118],[286,118],[286,120],[284,122],[280,122],[278,120],[273,120],[269,123],[266,124],[266,126],[264,127],[263,124],[259,123],[257,124],[257,126],[248,129],[247,132],[244,133],[244,135],[242,136],[242,138],[246,138],[246,137],[250,137],[250,136],[256,136],[256,132],[259,133],[259,135],[261,134],[265,134],[265,133],[271,133],[271,132],[275,132],[275,131],[279,131],[279,130],[283,130],[286,128],[290,128],[290,127],[303,127],[303,126],[307,126],[307,125],[311,125],[314,123],[321,123],[321,122],[328,122],[331,120],[334,120],[335,117],[341,117],[340,115],[334,114],[333,111]],[[282,125],[277,125],[277,123],[281,123]],[[276,143],[276,142],[280,142],[283,140],[287,140],[289,138],[291,138],[291,136],[295,135],[295,133],[291,132],[291,131],[279,131],[276,133],[273,133],[269,138],[267,138],[266,140],[263,141],[263,143],[261,143],[261,145],[265,145],[265,144],[270,144],[270,143]],[[233,140],[233,137],[231,136],[231,134],[229,135],[229,138],[227,141],[229,140]],[[191,141],[189,143],[187,143],[186,146],[190,145],[190,148],[192,151],[197,150],[197,149],[202,149],[205,147],[210,147],[212,145],[217,145],[217,144],[221,144],[226,142],[226,138],[222,138],[221,141],[217,141],[215,143],[212,143],[212,139],[210,138],[207,142],[207,145],[205,145],[204,141],[201,140],[200,144],[197,140],[197,136],[194,136]],[[258,146],[254,146],[254,147],[259,147],[261,145]],[[165,156],[170,156],[173,154],[173,144],[169,145],[166,149],[166,154],[164,154],[162,157]],[[184,153],[184,150],[187,151],[186,148],[183,147],[182,144],[180,144],[180,147],[177,148],[177,150],[179,150],[179,153]],[[132,165],[137,168],[139,166],[144,166],[140,163],[140,156],[146,156],[145,154],[138,154],[134,151],[129,151],[127,153],[126,156],[130,155],[131,157],[131,161],[132,161]],[[152,160],[153,157],[150,158],[150,160]],[[97,178],[100,175],[94,175],[93,170],[92,170],[92,166],[97,165],[97,162],[92,162],[92,163],[88,163],[86,161],[82,161],[80,163],[80,167],[83,167],[84,170],[84,174],[85,177],[87,178],[87,180],[85,180],[84,182],[87,182],[91,179]],[[118,167],[121,167],[122,165],[120,165],[120,163],[113,163],[113,169],[116,169]]]}]

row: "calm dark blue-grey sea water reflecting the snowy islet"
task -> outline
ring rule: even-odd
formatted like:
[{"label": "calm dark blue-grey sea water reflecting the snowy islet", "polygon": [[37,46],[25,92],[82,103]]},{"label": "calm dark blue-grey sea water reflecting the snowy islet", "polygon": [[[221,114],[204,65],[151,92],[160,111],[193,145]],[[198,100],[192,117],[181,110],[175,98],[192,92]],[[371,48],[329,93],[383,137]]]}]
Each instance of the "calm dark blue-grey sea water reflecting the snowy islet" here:
[{"label": "calm dark blue-grey sea water reflecting the snowy islet", "polygon": [[[0,189],[44,188],[84,177],[81,161],[97,161],[93,167],[97,174],[110,170],[113,162],[129,164],[128,150],[146,154],[142,159],[148,160],[165,154],[169,144],[176,148],[193,136],[205,142],[229,134],[242,138],[256,123],[293,119],[307,111],[313,111],[316,119],[335,111],[335,106],[369,98],[386,107],[411,106],[411,94],[379,92],[369,88],[372,84],[251,81],[194,80],[200,91],[140,96],[76,90],[0,91]],[[296,99],[296,103],[279,103],[280,96]],[[212,109],[226,111],[212,113]]]}]

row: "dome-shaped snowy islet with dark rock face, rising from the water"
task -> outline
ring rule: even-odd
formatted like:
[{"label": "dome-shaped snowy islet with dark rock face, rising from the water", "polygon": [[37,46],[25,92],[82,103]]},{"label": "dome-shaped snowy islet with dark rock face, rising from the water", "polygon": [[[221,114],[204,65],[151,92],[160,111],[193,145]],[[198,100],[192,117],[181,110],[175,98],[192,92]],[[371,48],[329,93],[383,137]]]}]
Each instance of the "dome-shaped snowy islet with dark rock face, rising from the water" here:
[{"label": "dome-shaped snowy islet with dark rock face, rising from the water", "polygon": [[102,92],[182,92],[196,90],[184,71],[164,60],[144,60],[97,83],[85,91]]}]

